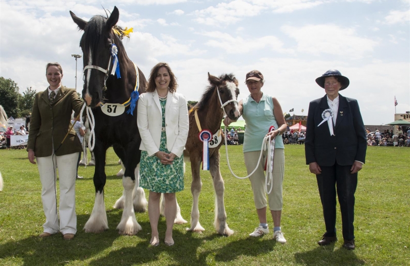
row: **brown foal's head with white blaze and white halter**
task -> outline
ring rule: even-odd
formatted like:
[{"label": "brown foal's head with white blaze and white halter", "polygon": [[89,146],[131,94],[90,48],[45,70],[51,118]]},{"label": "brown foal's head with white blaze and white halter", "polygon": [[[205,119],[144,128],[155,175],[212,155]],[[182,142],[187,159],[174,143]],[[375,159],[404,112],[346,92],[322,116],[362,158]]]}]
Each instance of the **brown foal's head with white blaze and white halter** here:
[{"label": "brown foal's head with white blaze and white halter", "polygon": [[209,74],[208,80],[211,86],[215,86],[221,106],[231,120],[237,120],[240,116],[238,109],[238,80],[233,74],[223,74],[215,77]]}]

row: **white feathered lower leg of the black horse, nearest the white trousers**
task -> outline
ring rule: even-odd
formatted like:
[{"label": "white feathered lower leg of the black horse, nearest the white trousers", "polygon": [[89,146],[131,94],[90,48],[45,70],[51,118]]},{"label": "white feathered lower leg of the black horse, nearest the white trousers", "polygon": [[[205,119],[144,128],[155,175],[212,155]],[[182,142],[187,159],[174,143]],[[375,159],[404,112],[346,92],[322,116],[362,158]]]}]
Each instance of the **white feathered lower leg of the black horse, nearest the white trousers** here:
[{"label": "white feathered lower leg of the black horse, nearest the white trousers", "polygon": [[105,212],[104,194],[95,194],[94,207],[91,216],[84,225],[85,233],[101,233],[108,229],[107,213]]}]

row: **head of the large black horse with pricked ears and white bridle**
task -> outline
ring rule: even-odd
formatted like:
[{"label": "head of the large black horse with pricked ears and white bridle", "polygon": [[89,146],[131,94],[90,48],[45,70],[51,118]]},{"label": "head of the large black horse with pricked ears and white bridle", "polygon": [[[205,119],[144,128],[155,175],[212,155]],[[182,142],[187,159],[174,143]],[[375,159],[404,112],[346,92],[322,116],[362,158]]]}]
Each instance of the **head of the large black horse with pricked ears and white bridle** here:
[{"label": "head of the large black horse with pricked ears and white bridle", "polygon": [[98,106],[103,100],[105,82],[113,67],[112,44],[114,41],[117,45],[121,42],[112,30],[120,13],[115,6],[109,18],[94,16],[88,22],[71,11],[70,14],[79,29],[84,31],[80,40],[84,64],[82,98],[88,106]]}]

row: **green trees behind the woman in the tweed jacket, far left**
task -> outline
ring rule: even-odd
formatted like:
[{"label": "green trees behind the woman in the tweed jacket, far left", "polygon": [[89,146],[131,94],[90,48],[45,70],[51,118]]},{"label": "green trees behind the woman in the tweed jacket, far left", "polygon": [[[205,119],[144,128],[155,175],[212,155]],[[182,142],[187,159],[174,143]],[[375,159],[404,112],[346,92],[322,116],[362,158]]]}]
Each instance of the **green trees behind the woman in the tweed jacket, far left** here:
[{"label": "green trees behind the woman in the tweed jacket, far left", "polygon": [[36,91],[31,87],[20,94],[19,87],[10,78],[0,77],[0,104],[10,117],[26,117],[31,114]]}]

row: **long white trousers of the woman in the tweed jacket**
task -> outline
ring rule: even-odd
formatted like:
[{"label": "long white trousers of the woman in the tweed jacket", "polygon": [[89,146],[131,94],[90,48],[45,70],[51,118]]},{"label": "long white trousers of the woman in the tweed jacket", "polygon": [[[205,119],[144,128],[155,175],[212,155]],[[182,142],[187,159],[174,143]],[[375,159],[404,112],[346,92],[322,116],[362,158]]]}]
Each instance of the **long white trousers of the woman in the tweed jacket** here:
[{"label": "long white trousers of the woman in the tweed jacket", "polygon": [[[43,224],[46,233],[77,233],[76,170],[79,153],[62,156],[37,157],[42,186],[41,200],[45,214]],[[57,215],[57,172],[60,184],[60,224]]]}]

